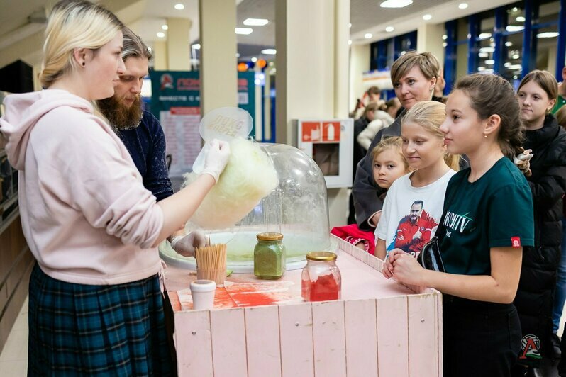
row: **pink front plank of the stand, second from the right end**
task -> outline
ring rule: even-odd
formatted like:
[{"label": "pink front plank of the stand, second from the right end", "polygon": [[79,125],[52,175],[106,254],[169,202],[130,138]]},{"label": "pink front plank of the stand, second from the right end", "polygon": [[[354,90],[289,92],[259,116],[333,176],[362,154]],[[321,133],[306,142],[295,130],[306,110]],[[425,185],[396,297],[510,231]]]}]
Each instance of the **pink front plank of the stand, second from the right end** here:
[{"label": "pink front plank of the stand, second from the right end", "polygon": [[409,376],[407,296],[377,300],[379,376]]}]

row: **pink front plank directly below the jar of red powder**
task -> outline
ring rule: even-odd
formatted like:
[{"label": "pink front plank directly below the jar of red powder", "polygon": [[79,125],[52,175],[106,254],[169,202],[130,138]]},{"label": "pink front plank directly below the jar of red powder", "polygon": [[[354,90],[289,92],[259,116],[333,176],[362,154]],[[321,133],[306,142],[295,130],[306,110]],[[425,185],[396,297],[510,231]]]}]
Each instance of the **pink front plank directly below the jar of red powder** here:
[{"label": "pink front plank directly below the jar of red powder", "polygon": [[314,375],[346,376],[344,301],[312,303]]}]

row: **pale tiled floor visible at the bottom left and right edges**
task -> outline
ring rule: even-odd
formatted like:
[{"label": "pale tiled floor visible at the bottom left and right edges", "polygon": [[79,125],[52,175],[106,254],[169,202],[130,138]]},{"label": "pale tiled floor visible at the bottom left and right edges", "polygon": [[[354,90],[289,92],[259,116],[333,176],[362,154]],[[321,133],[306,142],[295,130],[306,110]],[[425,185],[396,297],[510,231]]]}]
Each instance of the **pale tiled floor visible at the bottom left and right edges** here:
[{"label": "pale tiled floor visible at the bottom left and right edges", "polygon": [[[566,310],[562,314],[558,334],[562,334],[566,321]],[[551,363],[545,361],[542,376],[558,377],[556,370],[557,361]],[[28,299],[18,315],[16,323],[6,342],[6,346],[0,354],[0,376],[2,377],[25,377],[28,371]]]}]

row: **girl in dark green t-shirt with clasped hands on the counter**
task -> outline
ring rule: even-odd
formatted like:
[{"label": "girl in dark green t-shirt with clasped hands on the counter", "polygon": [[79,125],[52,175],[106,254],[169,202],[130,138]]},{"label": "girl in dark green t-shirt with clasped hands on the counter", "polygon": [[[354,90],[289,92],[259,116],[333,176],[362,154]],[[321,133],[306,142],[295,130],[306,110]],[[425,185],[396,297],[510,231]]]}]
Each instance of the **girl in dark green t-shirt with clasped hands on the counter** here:
[{"label": "girl in dark green t-shirt with clasped hands on the counter", "polygon": [[449,153],[470,159],[448,183],[436,232],[445,272],[393,250],[383,274],[443,293],[445,376],[511,376],[521,348],[513,300],[523,247],[534,245],[531,188],[511,162],[523,152],[511,84],[493,74],[462,77],[440,130]]}]

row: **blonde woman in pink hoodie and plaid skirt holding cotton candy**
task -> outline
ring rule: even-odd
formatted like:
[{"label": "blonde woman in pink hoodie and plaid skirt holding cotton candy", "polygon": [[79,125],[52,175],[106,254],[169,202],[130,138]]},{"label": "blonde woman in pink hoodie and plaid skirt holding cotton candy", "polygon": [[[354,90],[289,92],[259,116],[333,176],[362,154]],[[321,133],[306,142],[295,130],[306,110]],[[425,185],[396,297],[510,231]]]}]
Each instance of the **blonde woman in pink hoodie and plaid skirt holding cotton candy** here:
[{"label": "blonde woman in pink hoodie and plaid skirt holding cotton candy", "polygon": [[6,96],[0,133],[18,169],[29,282],[28,375],[169,376],[157,244],[179,229],[230,156],[213,140],[193,184],[156,203],[92,101],[124,72],[123,23],[59,1],[45,29],[43,91]]}]

